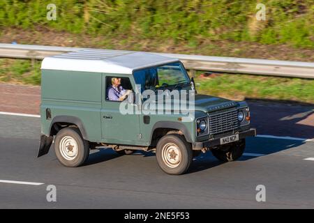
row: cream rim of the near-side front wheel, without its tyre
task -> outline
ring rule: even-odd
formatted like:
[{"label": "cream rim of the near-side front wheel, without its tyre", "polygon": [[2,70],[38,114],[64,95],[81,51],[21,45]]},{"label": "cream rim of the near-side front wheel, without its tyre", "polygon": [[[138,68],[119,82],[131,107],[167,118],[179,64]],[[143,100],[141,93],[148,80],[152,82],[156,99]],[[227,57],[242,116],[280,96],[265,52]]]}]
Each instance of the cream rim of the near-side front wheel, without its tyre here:
[{"label": "cream rim of the near-side front wheel, without its tyre", "polygon": [[163,146],[163,162],[170,168],[176,168],[181,163],[181,151],[176,144],[168,143]]}]

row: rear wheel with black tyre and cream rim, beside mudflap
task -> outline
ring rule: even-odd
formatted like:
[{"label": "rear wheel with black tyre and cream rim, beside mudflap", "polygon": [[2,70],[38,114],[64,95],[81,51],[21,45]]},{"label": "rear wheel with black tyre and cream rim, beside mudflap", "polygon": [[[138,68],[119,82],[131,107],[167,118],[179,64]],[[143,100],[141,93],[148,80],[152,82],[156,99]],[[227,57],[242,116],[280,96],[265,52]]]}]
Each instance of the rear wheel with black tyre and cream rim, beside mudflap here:
[{"label": "rear wheel with black tyre and cream rim, beside mudflap", "polygon": [[[77,151],[77,153],[76,155],[73,155],[73,157],[68,156],[67,159],[66,156],[70,153],[66,153],[65,149],[69,145],[73,146],[71,148],[71,151],[72,149],[75,149],[75,144],[73,143],[72,143],[73,145],[70,143],[68,144],[68,146],[62,146],[66,144],[66,139],[68,137],[74,139],[75,143],[77,144],[77,150],[75,150]],[[56,153],[59,162],[61,162],[61,164],[63,164],[64,166],[79,167],[80,165],[84,164],[84,162],[89,157],[89,142],[83,139],[82,134],[80,133],[80,130],[78,130],[78,128],[74,127],[63,128],[57,133],[56,138],[54,140],[54,152]]]}]

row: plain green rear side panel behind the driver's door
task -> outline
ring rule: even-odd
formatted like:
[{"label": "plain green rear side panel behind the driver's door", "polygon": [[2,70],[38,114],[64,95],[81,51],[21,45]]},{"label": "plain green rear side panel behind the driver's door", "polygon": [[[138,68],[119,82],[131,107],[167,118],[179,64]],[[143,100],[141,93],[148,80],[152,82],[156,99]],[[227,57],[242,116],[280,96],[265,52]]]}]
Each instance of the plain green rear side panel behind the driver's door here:
[{"label": "plain green rear side panel behind the driver's door", "polygon": [[[87,132],[87,139],[100,141],[101,73],[63,70],[42,70],[41,128],[50,133],[56,116],[75,116]],[[47,117],[47,109],[51,118]]]}]

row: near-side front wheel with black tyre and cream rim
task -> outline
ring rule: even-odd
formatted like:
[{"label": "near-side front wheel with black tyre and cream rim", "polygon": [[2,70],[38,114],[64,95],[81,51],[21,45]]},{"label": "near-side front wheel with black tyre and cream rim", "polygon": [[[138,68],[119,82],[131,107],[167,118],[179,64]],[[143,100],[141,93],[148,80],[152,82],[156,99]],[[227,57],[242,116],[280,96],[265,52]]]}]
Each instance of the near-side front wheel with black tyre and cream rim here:
[{"label": "near-side front wheel with black tyre and cream rim", "polygon": [[[172,157],[168,159],[168,156]],[[178,161],[175,161],[176,158]],[[193,159],[192,148],[180,134],[166,134],[157,143],[156,159],[159,167],[165,173],[173,175],[184,174],[190,167]],[[171,159],[173,159],[172,162],[177,163],[172,164]]]}]

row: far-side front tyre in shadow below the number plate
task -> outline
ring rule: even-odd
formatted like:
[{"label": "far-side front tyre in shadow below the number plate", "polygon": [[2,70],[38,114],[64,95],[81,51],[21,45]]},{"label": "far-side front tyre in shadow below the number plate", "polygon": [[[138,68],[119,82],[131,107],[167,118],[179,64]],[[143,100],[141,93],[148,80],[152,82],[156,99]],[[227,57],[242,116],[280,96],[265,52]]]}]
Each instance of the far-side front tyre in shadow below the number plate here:
[{"label": "far-side front tyre in shadow below the number plate", "polygon": [[220,146],[220,148],[214,148],[211,153],[220,161],[231,162],[239,159],[244,153],[246,148],[246,139],[241,139],[239,142]]}]

